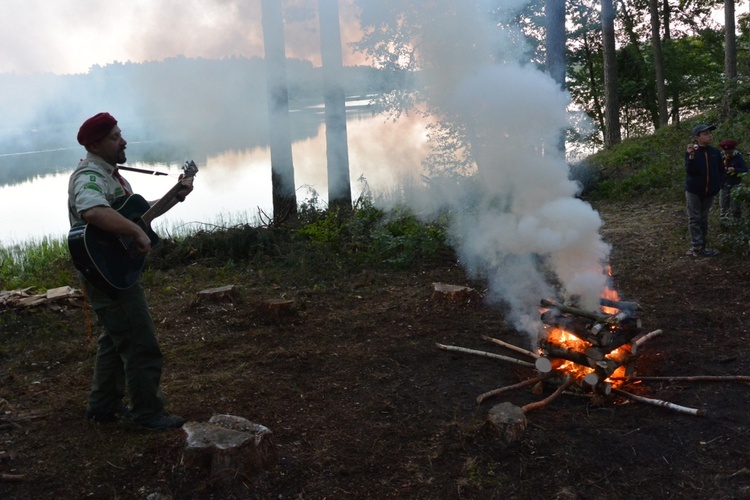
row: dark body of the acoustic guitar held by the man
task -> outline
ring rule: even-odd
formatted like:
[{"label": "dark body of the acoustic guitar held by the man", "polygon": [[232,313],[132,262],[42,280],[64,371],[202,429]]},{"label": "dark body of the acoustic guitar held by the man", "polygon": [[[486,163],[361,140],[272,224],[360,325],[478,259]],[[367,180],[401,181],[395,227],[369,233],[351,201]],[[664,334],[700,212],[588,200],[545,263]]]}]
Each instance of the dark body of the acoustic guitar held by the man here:
[{"label": "dark body of the acoustic guitar held by the man", "polygon": [[[139,224],[151,239],[151,246],[159,243],[159,236],[141,216],[150,205],[142,196],[134,194],[118,200],[114,208],[127,219]],[[135,285],[143,272],[146,257],[135,250],[132,238],[102,231],[92,224],[79,222],[70,228],[68,249],[73,265],[96,288],[105,292],[125,290]]]}]

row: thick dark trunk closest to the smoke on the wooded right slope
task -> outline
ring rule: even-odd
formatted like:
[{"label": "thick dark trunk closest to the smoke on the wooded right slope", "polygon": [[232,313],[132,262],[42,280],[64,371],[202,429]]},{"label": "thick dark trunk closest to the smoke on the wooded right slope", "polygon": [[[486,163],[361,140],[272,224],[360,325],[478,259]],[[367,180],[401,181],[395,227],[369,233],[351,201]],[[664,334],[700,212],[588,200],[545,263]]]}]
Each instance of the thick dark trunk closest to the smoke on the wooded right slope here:
[{"label": "thick dark trunk closest to the smoke on the wooded right slope", "polygon": [[615,47],[615,8],[612,0],[602,0],[602,39],[604,43],[604,145],[622,141],[620,103],[617,96],[617,59]]}]

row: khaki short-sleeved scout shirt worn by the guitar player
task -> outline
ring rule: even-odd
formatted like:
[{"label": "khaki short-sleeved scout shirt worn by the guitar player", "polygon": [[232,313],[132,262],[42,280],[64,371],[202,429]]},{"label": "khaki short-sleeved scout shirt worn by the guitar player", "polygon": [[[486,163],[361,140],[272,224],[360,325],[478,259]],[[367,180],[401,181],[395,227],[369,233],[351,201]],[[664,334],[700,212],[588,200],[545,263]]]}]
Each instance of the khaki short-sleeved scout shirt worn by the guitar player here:
[{"label": "khaki short-sleeved scout shirt worn by the guitar player", "polygon": [[68,218],[72,226],[81,221],[81,212],[99,206],[112,206],[117,198],[132,194],[130,183],[116,168],[93,153],[86,153],[70,175]]}]

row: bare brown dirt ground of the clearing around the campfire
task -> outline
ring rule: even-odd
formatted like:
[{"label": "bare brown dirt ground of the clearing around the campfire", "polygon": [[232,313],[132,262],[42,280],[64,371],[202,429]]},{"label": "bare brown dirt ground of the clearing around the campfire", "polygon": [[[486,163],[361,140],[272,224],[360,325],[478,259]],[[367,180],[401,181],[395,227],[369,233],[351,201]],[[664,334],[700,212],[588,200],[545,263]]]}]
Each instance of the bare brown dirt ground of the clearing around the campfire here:
[{"label": "bare brown dirt ground of the clearing around the campfire", "polygon": [[[750,375],[747,257],[684,256],[679,205],[596,208],[621,298],[642,305],[644,330],[664,331],[644,345],[637,374]],[[274,433],[278,465],[231,484],[182,465],[181,430],[85,421],[94,344],[82,309],[3,312],[0,473],[18,480],[0,480],[0,498],[750,498],[747,383],[631,387],[705,417],[563,395],[527,415],[521,440],[500,442],[487,411],[540,396],[476,397],[532,370],[435,344],[509,355],[481,336],[528,341],[500,308],[431,300],[433,282],[482,290],[451,262],[316,284],[200,266],[152,277],[169,409],[194,421],[237,415]],[[236,304],[194,303],[227,284],[240,289]],[[278,297],[296,314],[264,318],[260,302]]]}]

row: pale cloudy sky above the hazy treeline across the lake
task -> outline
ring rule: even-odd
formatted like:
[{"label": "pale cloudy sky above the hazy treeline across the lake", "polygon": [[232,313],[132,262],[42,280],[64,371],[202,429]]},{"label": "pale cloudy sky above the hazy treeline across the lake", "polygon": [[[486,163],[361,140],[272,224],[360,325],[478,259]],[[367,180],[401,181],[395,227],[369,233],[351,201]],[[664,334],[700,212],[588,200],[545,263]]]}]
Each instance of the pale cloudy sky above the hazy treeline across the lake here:
[{"label": "pale cloudy sky above the hazy treeline across the lake", "polygon": [[[287,56],[319,65],[317,0],[285,0]],[[0,73],[86,73],[169,57],[263,56],[260,0],[3,0]],[[359,37],[340,1],[342,45]],[[344,64],[361,64],[350,52]]]}]

